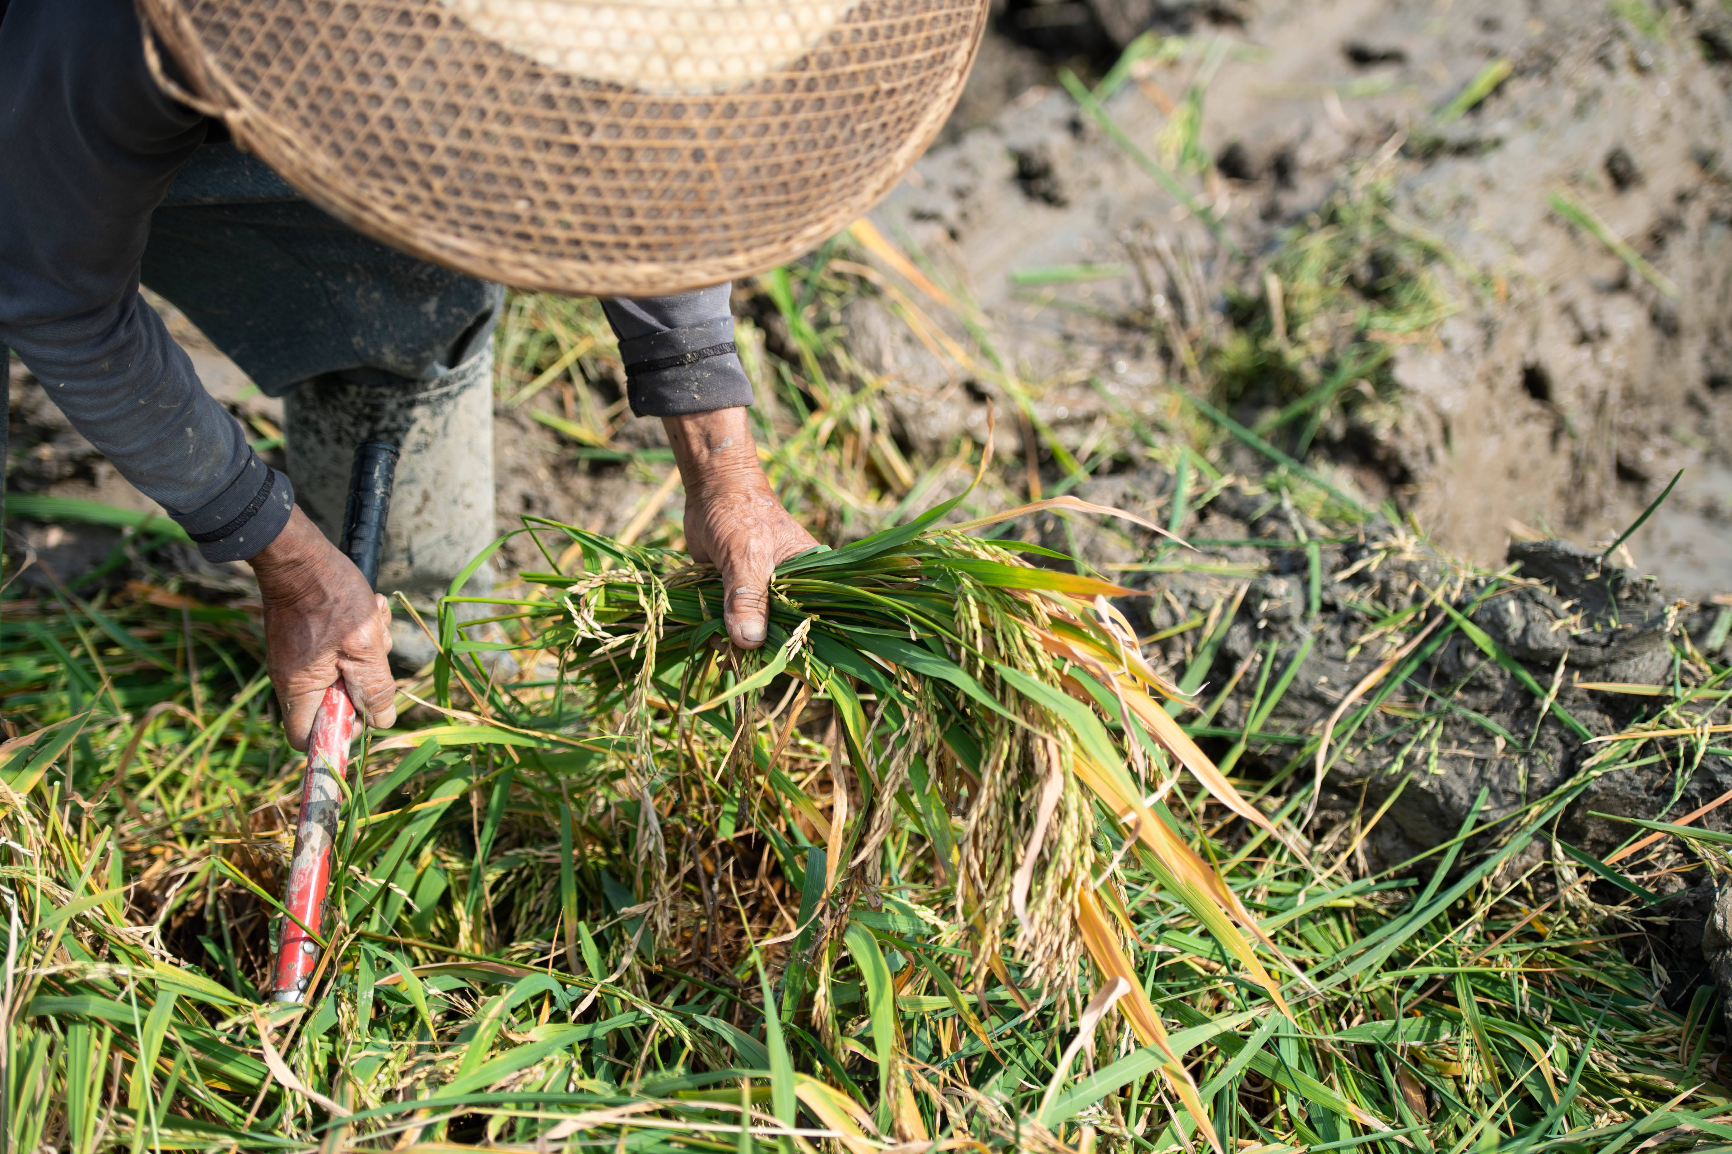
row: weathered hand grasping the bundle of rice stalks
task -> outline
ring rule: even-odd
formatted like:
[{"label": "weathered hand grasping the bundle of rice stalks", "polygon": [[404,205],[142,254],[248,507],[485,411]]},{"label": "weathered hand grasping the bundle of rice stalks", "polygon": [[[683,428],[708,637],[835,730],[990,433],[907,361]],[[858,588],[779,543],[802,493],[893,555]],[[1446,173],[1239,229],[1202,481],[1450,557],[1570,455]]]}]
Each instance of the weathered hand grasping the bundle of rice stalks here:
[{"label": "weathered hand grasping the bundle of rice stalks", "polygon": [[741,649],[764,644],[769,578],[816,545],[788,516],[759,465],[745,408],[663,417],[686,483],[686,547],[722,573],[722,621]]}]

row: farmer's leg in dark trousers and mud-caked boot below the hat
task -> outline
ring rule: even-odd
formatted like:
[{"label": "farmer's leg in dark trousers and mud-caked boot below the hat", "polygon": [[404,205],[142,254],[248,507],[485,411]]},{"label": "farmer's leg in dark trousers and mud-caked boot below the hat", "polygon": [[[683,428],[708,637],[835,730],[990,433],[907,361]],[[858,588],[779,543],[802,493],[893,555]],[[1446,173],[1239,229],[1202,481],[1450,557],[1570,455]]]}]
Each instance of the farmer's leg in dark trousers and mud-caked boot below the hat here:
[{"label": "farmer's leg in dark trousers and mud-caked boot below the hat", "polygon": [[327,538],[343,528],[355,446],[402,450],[383,592],[436,599],[494,540],[504,289],[346,228],[229,144],[203,145],[180,170],[151,218],[142,273],[284,398],[296,503]]}]

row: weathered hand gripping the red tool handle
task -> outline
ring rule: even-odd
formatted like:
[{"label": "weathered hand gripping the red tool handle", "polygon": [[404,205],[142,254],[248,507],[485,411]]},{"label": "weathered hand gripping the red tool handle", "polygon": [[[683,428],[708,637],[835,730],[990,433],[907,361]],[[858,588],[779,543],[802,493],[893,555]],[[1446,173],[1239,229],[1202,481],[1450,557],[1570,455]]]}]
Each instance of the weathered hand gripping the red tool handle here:
[{"label": "weathered hand gripping the red tool handle", "polygon": [[397,685],[385,661],[391,609],[300,505],[277,540],[253,557],[253,573],[265,595],[265,666],[289,744],[307,749],[319,701],[338,675],[367,725],[397,721]]}]

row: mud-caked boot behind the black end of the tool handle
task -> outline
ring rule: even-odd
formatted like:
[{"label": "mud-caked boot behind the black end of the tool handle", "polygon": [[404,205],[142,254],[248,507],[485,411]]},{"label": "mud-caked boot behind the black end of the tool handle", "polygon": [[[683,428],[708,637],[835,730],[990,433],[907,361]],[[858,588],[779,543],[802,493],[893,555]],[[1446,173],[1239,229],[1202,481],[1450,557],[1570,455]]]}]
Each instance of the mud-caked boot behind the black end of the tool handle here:
[{"label": "mud-caked boot behind the black end of the tool handle", "polygon": [[[492,370],[494,349],[485,344],[431,381],[315,377],[284,398],[294,495],[333,542],[343,531],[355,446],[381,439],[400,448],[378,588],[386,597],[402,592],[433,630],[438,599],[497,536]],[[487,593],[495,580],[483,564],[464,592]],[[435,647],[395,599],[391,609],[391,664],[412,673],[433,661]],[[461,609],[471,619],[490,616],[481,604]]]}]

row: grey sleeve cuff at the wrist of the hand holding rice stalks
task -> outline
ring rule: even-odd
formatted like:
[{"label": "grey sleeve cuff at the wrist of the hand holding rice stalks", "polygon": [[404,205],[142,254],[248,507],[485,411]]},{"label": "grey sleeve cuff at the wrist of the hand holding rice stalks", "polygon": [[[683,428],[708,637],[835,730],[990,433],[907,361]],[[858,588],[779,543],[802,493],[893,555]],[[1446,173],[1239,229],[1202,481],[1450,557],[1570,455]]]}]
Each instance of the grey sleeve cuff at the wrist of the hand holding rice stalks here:
[{"label": "grey sleeve cuff at the wrist of the hand holding rice stalks", "polygon": [[752,403],[733,317],[620,341],[620,358],[625,394],[639,417],[682,417]]}]

